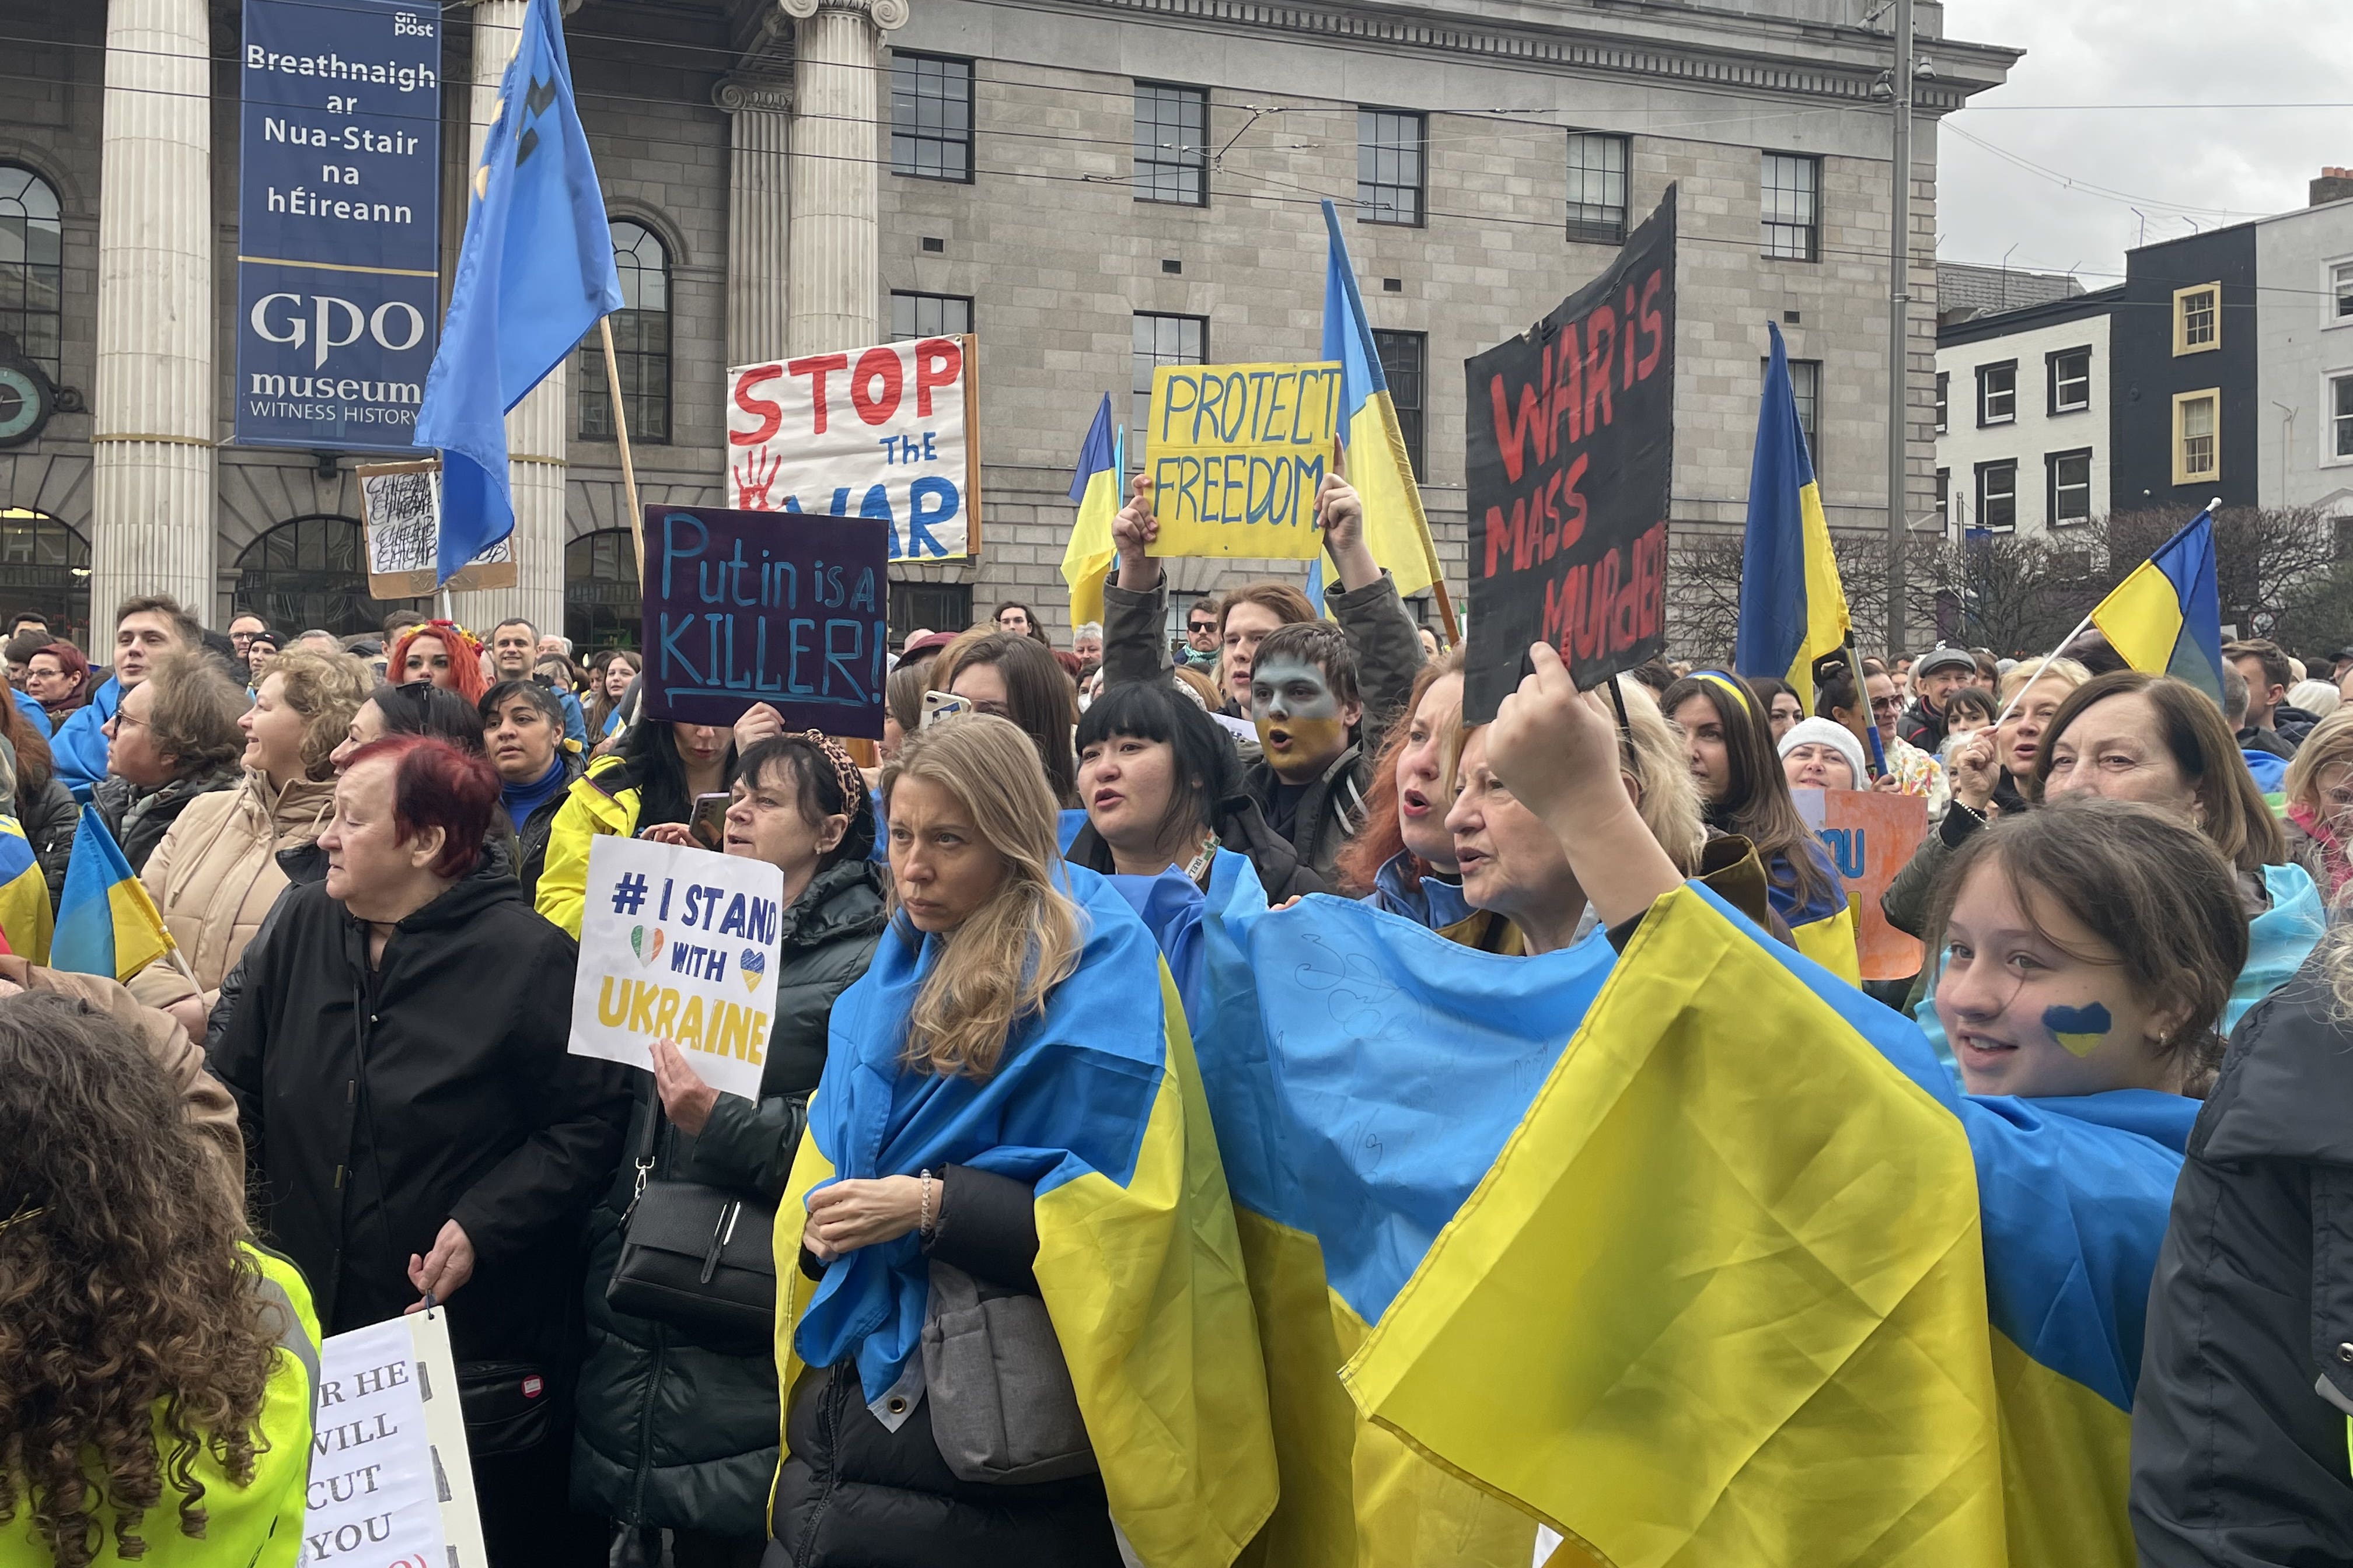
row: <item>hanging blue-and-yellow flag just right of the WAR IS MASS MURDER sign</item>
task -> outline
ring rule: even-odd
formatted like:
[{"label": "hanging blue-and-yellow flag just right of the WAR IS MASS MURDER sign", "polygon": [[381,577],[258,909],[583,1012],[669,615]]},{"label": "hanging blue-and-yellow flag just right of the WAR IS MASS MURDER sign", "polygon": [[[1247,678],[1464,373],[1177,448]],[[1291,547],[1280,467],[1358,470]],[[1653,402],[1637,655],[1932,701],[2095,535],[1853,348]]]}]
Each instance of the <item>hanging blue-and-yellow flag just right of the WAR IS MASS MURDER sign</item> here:
[{"label": "hanging blue-and-yellow flag just right of the WAR IS MASS MURDER sign", "polygon": [[1741,550],[1741,623],[1732,668],[1788,682],[1814,712],[1814,661],[1847,642],[1847,590],[1831,555],[1814,458],[1798,423],[1781,329],[1765,324],[1772,357],[1748,461],[1748,538]]}]

